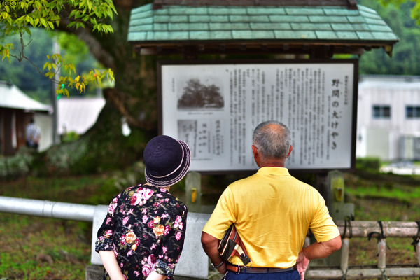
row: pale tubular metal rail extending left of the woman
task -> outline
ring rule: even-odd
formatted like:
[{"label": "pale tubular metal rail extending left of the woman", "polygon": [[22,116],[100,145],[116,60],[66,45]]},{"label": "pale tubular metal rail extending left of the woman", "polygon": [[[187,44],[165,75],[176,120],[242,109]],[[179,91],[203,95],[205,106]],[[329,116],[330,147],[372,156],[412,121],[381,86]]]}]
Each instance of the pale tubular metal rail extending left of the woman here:
[{"label": "pale tubular metal rail extending left of the woman", "polygon": [[95,206],[0,196],[0,212],[93,222]]}]

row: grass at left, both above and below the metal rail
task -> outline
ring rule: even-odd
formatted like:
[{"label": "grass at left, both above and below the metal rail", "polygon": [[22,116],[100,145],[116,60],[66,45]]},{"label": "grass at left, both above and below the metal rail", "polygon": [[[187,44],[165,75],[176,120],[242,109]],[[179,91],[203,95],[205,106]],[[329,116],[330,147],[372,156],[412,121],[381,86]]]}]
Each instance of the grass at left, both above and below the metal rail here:
[{"label": "grass at left, both above and below the metal rail", "polygon": [[[2,181],[0,195],[85,204],[108,176]],[[111,200],[111,198],[110,198]],[[0,279],[85,279],[92,224],[0,213]]]}]

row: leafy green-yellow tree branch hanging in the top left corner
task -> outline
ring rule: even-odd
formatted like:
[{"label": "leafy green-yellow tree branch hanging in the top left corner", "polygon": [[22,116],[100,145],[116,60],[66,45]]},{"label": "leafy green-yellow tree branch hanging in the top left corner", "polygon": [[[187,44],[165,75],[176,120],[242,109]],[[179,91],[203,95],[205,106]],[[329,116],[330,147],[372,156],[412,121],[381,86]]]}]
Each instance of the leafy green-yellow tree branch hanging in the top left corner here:
[{"label": "leafy green-yellow tree branch hanging in the top left corner", "polygon": [[[10,3],[4,5],[3,3]],[[20,34],[20,52],[19,55],[10,55],[10,50],[14,46],[11,43],[5,45],[0,44],[1,61],[7,57],[10,62],[10,57],[18,59],[21,62],[23,59],[29,61],[42,76],[49,78],[53,83],[57,83],[57,94],[66,94],[69,97],[69,91],[65,87],[76,87],[78,92],[83,92],[88,83],[96,83],[101,85],[102,79],[107,78],[109,82],[114,80],[113,71],[108,69],[106,71],[99,71],[92,69],[89,73],[78,75],[73,64],[66,64],[64,59],[59,54],[48,55],[48,61],[45,62],[43,70],[48,69],[47,73],[43,73],[38,67],[25,56],[24,50],[31,43],[25,45],[23,41],[23,34],[27,33],[31,36],[31,30],[28,26],[41,27],[46,30],[55,29],[55,25],[64,19],[64,11],[71,10],[68,14],[68,19],[73,19],[67,27],[69,28],[86,28],[86,25],[92,27],[92,31],[97,31],[99,34],[113,33],[111,25],[102,23],[105,18],[113,19],[113,13],[116,8],[113,6],[112,0],[52,0],[52,1],[37,1],[37,0],[22,0],[0,2],[0,26],[6,35]],[[49,59],[53,59],[51,63]],[[55,80],[55,75],[60,73],[60,69],[64,66],[66,71],[69,71],[69,76],[60,76],[59,80]],[[54,71],[51,71],[53,69]],[[76,75],[71,77],[71,73]]]}]

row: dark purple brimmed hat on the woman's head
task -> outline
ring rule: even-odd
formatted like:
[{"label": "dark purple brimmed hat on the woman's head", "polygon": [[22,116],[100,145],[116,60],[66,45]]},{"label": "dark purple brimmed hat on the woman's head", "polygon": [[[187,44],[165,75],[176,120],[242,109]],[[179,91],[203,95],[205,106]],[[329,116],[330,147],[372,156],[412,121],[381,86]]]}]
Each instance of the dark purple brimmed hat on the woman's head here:
[{"label": "dark purple brimmed hat on the woman's head", "polygon": [[167,135],[151,139],[144,149],[144,174],[152,186],[168,187],[188,172],[191,152],[188,145]]}]

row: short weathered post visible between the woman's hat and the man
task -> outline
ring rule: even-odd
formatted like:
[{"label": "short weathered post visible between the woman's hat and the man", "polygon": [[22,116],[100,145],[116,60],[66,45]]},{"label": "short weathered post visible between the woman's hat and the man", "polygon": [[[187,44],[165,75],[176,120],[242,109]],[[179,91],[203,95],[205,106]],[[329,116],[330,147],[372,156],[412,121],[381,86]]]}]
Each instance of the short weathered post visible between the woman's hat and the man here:
[{"label": "short weathered post visible between the woman's hat and the man", "polygon": [[186,176],[186,201],[188,212],[201,212],[201,174],[188,172]]}]

